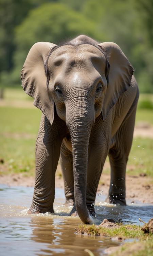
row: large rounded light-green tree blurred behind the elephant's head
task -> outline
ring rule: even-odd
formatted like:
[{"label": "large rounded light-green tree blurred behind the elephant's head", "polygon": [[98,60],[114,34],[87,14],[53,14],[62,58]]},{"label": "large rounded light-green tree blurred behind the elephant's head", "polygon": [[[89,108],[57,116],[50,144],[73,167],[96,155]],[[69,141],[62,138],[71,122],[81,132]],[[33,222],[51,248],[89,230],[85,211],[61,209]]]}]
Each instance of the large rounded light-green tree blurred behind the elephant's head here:
[{"label": "large rounded light-green tree blurred behind the elephant's head", "polygon": [[18,71],[22,68],[27,53],[34,43],[46,41],[58,44],[80,33],[96,37],[94,28],[94,22],[61,3],[46,3],[31,11],[16,29],[14,81],[19,81]]}]

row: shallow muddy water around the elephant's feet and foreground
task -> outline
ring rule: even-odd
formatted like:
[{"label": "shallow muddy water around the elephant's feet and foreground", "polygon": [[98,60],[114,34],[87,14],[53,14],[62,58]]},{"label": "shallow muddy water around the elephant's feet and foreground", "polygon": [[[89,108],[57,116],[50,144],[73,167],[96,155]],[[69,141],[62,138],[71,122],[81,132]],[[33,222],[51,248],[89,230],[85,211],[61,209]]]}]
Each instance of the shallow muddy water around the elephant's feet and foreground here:
[{"label": "shallow muddy water around the elephant's feet and foreground", "polygon": [[[80,224],[78,217],[67,217],[71,208],[64,207],[64,191],[55,191],[55,214],[28,215],[33,188],[0,186],[0,254],[45,256],[45,255],[104,255],[109,246],[121,242],[110,238],[85,237],[75,234]],[[113,218],[123,223],[139,223],[138,218],[147,222],[153,213],[153,206],[129,204],[127,207],[105,205],[103,195],[97,195],[96,213],[101,222]]]}]

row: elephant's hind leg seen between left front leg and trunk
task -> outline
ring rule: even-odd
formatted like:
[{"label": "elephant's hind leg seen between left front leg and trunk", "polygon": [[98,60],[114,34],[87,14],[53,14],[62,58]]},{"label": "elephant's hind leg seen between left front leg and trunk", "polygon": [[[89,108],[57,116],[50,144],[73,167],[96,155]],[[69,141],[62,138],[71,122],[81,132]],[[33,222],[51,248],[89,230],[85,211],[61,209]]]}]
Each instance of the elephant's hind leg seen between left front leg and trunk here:
[{"label": "elephant's hind leg seen between left front leg and trunk", "polygon": [[72,153],[64,145],[61,145],[60,164],[64,179],[64,190],[66,197],[66,206],[74,204],[74,178],[73,178],[73,158]]}]

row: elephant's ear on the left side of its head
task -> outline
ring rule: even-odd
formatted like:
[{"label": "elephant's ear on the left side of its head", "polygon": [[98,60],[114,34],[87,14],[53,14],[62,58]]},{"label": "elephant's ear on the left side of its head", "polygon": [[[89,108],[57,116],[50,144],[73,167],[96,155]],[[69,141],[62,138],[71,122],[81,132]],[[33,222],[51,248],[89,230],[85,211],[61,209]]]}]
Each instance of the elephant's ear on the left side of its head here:
[{"label": "elephant's ear on the left side of its head", "polygon": [[44,63],[56,44],[35,43],[30,49],[21,70],[23,90],[34,98],[33,104],[40,109],[52,124],[54,120],[54,101],[47,88]]}]

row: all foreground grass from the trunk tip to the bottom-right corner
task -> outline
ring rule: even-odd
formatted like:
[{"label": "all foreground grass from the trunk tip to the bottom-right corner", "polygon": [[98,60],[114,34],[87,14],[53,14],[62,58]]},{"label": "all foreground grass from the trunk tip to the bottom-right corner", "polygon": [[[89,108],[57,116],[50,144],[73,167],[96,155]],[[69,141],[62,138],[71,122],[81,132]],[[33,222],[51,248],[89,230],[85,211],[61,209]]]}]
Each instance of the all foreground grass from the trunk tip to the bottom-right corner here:
[{"label": "all foreground grass from the trunk tip to the bottom-right corner", "polygon": [[[140,226],[121,223],[115,228],[106,228],[96,225],[79,225],[76,229],[77,234],[85,234],[89,236],[105,236],[120,237],[122,239],[139,239],[138,242],[125,243],[116,247],[116,251],[111,256],[153,256],[153,234],[146,234],[141,230]],[[92,254],[88,251],[89,255]]]}]

